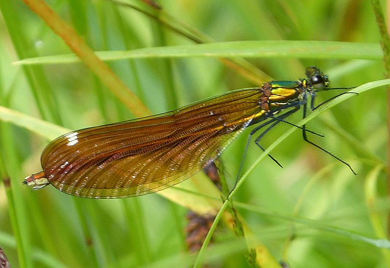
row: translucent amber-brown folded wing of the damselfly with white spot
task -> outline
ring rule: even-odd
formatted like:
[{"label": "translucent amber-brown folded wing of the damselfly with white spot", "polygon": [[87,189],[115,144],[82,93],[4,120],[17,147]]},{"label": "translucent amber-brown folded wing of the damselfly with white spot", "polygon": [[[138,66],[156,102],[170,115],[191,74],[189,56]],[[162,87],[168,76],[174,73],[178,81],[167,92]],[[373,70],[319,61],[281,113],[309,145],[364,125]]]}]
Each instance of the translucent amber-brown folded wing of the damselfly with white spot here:
[{"label": "translucent amber-brown folded wing of the damselfly with white spot", "polygon": [[255,117],[260,89],[233,91],[176,111],[73,131],[42,153],[45,177],[78,197],[134,197],[189,178]]}]

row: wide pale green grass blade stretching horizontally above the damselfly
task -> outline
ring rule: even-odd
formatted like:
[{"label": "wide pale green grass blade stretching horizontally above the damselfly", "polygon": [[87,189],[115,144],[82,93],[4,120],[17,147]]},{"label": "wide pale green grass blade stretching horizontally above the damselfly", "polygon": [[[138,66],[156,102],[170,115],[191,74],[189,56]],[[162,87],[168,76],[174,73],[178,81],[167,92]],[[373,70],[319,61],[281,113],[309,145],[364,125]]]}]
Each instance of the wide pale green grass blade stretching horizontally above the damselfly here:
[{"label": "wide pale green grass blade stretching horizontally above the damselfly", "polygon": [[[246,58],[310,58],[310,59],[381,59],[378,44],[334,41],[232,41],[199,45],[141,48],[131,51],[101,51],[95,54],[105,61],[159,57],[246,57]],[[74,54],[22,59],[15,64],[74,63]]]}]

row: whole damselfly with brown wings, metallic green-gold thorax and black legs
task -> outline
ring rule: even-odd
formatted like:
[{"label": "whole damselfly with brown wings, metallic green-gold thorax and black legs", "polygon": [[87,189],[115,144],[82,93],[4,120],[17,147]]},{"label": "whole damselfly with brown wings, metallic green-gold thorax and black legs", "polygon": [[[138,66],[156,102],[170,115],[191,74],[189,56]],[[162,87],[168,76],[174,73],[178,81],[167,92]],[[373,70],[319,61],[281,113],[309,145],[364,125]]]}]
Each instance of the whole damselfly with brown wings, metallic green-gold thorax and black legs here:
[{"label": "whole damselfly with brown wings, metallic green-gold thorax and black legs", "polygon": [[[264,150],[260,139],[280,122],[294,125],[286,118],[300,107],[305,117],[308,105],[314,110],[348,93],[314,106],[316,92],[330,89],[328,76],[316,67],[309,67],[306,75],[238,89],[171,112],[72,131],[47,145],[43,170],[23,183],[34,189],[52,184],[66,194],[88,198],[136,197],[168,188],[214,161],[246,127],[259,124],[246,148],[261,131],[254,142]],[[305,125],[294,126],[302,129],[306,142],[351,169],[309,141],[306,133],[311,131]]]}]

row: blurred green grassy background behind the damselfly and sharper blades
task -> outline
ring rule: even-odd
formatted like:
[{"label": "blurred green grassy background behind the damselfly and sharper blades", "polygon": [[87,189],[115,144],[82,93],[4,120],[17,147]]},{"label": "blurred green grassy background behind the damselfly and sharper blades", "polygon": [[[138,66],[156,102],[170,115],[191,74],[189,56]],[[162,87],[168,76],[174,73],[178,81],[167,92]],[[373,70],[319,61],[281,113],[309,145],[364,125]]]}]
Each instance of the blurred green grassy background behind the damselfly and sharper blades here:
[{"label": "blurred green grassy background behind the damselfly and sharper blades", "polygon": [[[140,1],[128,2],[157,13]],[[94,51],[193,44],[160,22],[110,1],[47,3],[73,25]],[[379,44],[380,41],[367,0],[160,0],[159,3],[173,18],[216,42],[317,40]],[[71,51],[22,1],[2,0],[0,12],[1,106],[68,129],[133,118],[82,63],[27,67],[12,64],[22,58]],[[331,59],[276,55],[248,61],[278,80],[302,78],[306,67],[316,65],[329,75],[332,87],[352,87],[384,78],[382,60],[370,60],[367,51],[362,50],[352,59],[342,55]],[[248,81],[218,58],[206,54],[125,59],[108,64],[152,113],[264,82]],[[317,101],[326,100],[333,93],[318,96]],[[356,176],[339,161],[305,143],[297,130],[272,152],[283,169],[265,158],[246,179],[235,200],[256,209],[244,206],[237,209],[277,261],[283,260],[292,268],[390,265],[389,252],[384,249],[386,241],[382,246],[373,245],[378,240],[362,241],[363,237],[384,238],[386,232],[390,204],[385,196],[386,109],[386,89],[377,88],[353,96],[309,123],[310,129],[325,135],[312,140],[349,162]],[[299,121],[301,116],[297,112],[292,122]],[[12,267],[192,266],[195,255],[187,253],[184,242],[186,208],[157,194],[88,200],[67,196],[51,186],[31,191],[21,182],[40,170],[40,152],[49,142],[44,138],[46,130],[32,132],[12,122],[0,122],[0,126],[0,175],[9,176],[12,184],[11,199],[0,184],[0,247]],[[273,143],[289,128],[275,127],[262,140],[263,146]],[[245,131],[222,153],[230,185],[234,184],[247,134]],[[252,144],[244,169],[260,153]],[[301,218],[312,221],[300,221]],[[235,239],[221,222],[207,251],[207,264],[250,267],[245,247],[237,247]]]}]

